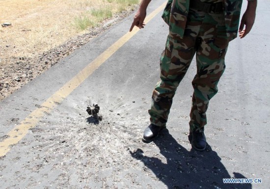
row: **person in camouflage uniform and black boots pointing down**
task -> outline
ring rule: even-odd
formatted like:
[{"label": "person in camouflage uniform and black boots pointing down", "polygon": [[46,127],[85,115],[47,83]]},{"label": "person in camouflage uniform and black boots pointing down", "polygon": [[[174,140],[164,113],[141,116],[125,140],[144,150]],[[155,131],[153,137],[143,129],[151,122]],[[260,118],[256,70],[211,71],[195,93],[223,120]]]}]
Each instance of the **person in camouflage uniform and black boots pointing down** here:
[{"label": "person in camouflage uniform and black boots pointing down", "polygon": [[[130,31],[134,26],[144,27],[150,1],[141,1]],[[144,131],[143,141],[152,141],[166,127],[176,89],[196,54],[189,141],[196,150],[205,150],[206,111],[225,70],[228,43],[237,37],[238,31],[243,38],[251,30],[256,5],[257,0],[248,0],[239,27],[242,0],[168,0],[162,14],[169,25],[169,34],[160,59],[161,80],[153,91],[148,111],[151,124]]]}]

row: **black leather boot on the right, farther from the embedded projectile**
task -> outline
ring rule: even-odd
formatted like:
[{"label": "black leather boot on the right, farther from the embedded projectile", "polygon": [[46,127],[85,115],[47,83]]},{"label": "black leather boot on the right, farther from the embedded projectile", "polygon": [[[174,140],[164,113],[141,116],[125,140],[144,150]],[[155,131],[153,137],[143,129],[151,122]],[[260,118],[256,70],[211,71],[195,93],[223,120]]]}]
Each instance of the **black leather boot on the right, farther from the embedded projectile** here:
[{"label": "black leather boot on the right, farther from the embedded projectile", "polygon": [[206,148],[204,128],[194,129],[192,132],[189,132],[189,142],[195,150],[204,151]]}]

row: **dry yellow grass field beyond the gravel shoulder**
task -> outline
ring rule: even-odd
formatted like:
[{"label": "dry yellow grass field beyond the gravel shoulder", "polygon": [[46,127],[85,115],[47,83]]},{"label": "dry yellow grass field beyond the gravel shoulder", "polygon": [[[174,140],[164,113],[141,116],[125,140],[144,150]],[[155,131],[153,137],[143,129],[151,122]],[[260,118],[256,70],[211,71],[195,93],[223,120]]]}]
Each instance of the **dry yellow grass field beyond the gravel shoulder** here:
[{"label": "dry yellow grass field beyond the gravel shoulder", "polygon": [[9,57],[32,57],[82,34],[139,0],[1,0],[0,65]]}]

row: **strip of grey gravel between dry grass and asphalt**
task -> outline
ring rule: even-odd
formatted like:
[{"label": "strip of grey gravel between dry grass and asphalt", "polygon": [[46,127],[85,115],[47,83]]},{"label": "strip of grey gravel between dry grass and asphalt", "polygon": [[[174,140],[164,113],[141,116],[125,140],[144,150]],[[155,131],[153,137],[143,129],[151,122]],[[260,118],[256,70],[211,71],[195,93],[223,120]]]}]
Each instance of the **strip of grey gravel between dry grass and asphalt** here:
[{"label": "strip of grey gravel between dry grass and asphalt", "polygon": [[50,69],[50,67],[57,64],[62,58],[73,53],[76,49],[88,43],[109,27],[120,22],[131,12],[132,10],[128,10],[115,14],[112,18],[103,21],[98,27],[90,28],[85,34],[70,38],[64,44],[48,52],[31,58],[10,57],[6,60],[6,62],[9,62],[8,64],[0,64],[0,101],[24,86],[28,81],[33,80],[44,71]]}]

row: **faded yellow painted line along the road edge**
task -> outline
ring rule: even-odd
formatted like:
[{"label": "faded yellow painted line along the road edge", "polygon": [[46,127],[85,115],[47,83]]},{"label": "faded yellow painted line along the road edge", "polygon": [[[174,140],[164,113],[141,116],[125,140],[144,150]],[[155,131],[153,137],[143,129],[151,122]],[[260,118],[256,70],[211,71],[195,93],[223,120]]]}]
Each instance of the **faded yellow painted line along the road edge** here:
[{"label": "faded yellow painted line along the road edge", "polygon": [[[145,24],[153,19],[162,9],[164,9],[166,2],[154,10],[144,20]],[[102,63],[104,63],[112,54],[114,54],[120,47],[122,47],[130,38],[137,32],[135,27],[132,32],[127,32],[124,36],[118,39],[106,51],[100,54],[96,59],[89,63],[81,70],[74,78],[64,84],[57,92],[55,92],[49,99],[47,99],[41,108],[32,111],[19,125],[13,128],[7,135],[5,140],[0,142],[0,157],[5,156],[10,150],[11,146],[17,144],[28,132],[29,129],[36,126],[40,118],[45,113],[51,112],[57,104],[61,103],[74,89],[76,89],[86,78],[88,78]]]}]

